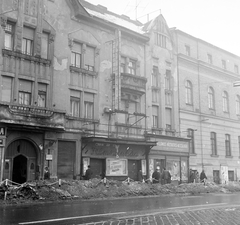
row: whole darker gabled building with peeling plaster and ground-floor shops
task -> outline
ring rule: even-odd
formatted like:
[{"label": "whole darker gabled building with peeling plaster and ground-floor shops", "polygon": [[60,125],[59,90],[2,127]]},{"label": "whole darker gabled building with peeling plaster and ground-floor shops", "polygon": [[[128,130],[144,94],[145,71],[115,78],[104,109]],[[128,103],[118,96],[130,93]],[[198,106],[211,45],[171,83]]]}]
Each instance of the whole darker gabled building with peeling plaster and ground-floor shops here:
[{"label": "whole darker gabled building with peeling plaster and ground-floor shops", "polygon": [[162,15],[144,26],[86,1],[0,3],[1,179],[187,181],[177,57]]}]

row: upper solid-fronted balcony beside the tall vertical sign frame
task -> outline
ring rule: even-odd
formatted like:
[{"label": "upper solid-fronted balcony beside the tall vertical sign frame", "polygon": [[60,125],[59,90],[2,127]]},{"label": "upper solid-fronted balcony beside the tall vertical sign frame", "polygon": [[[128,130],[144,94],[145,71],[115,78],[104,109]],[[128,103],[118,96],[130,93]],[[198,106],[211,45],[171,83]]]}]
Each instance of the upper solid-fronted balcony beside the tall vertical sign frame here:
[{"label": "upper solid-fronted balcony beside the tall vertical sign frame", "polygon": [[128,73],[121,73],[121,88],[135,94],[146,93],[147,78]]}]

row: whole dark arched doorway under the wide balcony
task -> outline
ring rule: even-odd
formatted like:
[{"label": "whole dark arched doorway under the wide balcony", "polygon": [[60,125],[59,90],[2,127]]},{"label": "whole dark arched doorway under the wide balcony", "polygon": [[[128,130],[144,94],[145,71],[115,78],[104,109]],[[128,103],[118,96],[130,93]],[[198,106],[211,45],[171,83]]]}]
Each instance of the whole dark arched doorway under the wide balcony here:
[{"label": "whole dark arched doorway under the wide balcony", "polygon": [[36,179],[37,147],[26,139],[13,141],[6,150],[4,179],[24,183]]}]

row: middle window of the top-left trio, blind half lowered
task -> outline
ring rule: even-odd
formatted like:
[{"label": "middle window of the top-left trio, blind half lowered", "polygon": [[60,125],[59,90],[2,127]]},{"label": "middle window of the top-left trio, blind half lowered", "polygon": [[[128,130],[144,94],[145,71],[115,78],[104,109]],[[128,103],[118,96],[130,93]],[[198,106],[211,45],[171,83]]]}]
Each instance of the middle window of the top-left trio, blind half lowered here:
[{"label": "middle window of the top-left trio, blind half lowered", "polygon": [[23,27],[22,53],[33,55],[34,29]]}]

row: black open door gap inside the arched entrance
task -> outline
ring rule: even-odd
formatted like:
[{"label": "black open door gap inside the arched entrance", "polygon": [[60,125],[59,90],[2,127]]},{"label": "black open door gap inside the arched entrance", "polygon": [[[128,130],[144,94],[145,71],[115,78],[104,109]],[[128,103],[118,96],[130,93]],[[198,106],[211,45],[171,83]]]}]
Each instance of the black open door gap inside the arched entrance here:
[{"label": "black open door gap inside the arched entrance", "polygon": [[27,158],[23,155],[18,155],[13,159],[12,180],[19,184],[27,181]]}]

